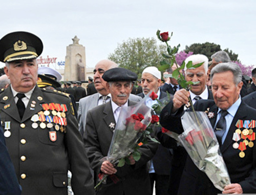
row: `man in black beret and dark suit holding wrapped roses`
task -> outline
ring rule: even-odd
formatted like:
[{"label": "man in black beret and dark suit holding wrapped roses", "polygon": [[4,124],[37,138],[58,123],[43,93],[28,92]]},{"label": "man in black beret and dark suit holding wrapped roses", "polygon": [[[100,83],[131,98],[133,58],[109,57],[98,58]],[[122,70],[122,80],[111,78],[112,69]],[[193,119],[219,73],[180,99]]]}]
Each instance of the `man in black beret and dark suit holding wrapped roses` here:
[{"label": "man in black beret and dark suit holding wrapped roses", "polygon": [[106,71],[102,78],[108,82],[107,90],[111,93],[111,101],[88,111],[84,143],[93,170],[97,174],[99,172],[107,175],[115,174],[119,181],[113,183],[107,180],[98,194],[150,195],[150,178],[146,164],[153,158],[158,144],[148,140],[148,143],[139,149],[141,158],[138,162],[135,162],[132,155],[130,156],[131,165],[114,167],[109,161],[102,160],[108,155],[113,137],[113,128],[110,124],[117,122],[120,107],[136,104],[128,98],[133,88],[132,81],[137,79],[137,75],[123,68],[114,68]]}]

